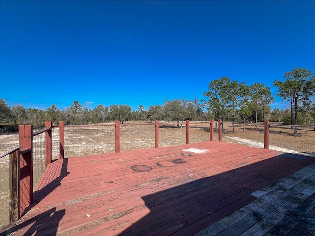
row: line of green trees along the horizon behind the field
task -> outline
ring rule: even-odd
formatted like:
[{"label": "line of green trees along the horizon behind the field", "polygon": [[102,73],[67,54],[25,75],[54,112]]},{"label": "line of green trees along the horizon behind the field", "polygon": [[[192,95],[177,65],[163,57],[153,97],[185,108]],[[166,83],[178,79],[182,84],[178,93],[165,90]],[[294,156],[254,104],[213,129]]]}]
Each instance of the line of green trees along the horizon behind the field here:
[{"label": "line of green trees along the horizon behind the field", "polygon": [[215,79],[209,83],[208,91],[204,92],[206,99],[166,100],[162,105],[152,105],[145,109],[140,105],[133,110],[129,105],[98,105],[94,109],[83,107],[74,101],[65,110],[52,104],[46,110],[36,108],[26,109],[21,105],[8,106],[0,99],[1,132],[16,131],[18,125],[32,124],[41,128],[45,121],[50,120],[58,125],[60,120],[65,125],[83,125],[105,123],[119,120],[127,121],[154,120],[177,121],[209,121],[210,119],[231,122],[283,122],[291,125],[314,125],[315,123],[315,77],[304,68],[296,68],[284,75],[284,81],[274,81],[278,87],[276,96],[290,104],[290,109],[275,108],[270,105],[274,97],[270,88],[262,83],[251,86],[245,82],[231,81],[229,77]]}]

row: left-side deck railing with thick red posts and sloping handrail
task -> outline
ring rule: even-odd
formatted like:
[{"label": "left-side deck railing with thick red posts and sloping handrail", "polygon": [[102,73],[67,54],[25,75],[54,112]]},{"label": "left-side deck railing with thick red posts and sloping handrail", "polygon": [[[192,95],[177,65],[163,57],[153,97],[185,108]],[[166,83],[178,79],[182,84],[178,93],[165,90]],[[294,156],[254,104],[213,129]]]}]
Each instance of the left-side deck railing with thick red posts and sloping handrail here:
[{"label": "left-side deck railing with thick red posts and sloping handrail", "polygon": [[[63,121],[60,126],[62,124]],[[60,140],[64,140],[64,135]],[[19,144],[20,146],[0,156],[10,156],[9,190],[1,189],[1,192],[9,191],[9,223],[18,220],[26,207],[32,204],[33,190],[46,167],[52,162],[52,122],[47,121],[45,128],[34,132],[32,125],[20,125]],[[64,143],[60,147],[64,147]],[[63,150],[60,150],[60,158],[63,158]],[[3,192],[3,195],[6,193]],[[1,218],[1,221],[4,221],[1,225],[8,223],[7,219]]]}]

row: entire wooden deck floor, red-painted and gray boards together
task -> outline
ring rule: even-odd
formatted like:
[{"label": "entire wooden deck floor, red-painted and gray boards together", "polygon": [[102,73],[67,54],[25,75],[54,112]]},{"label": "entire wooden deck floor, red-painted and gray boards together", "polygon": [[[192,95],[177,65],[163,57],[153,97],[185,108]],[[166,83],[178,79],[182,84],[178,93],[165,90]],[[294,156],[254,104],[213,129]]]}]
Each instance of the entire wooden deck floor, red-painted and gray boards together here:
[{"label": "entire wooden deck floor, red-painted and gray boards together", "polygon": [[11,235],[315,235],[314,163],[216,141],[57,160]]}]

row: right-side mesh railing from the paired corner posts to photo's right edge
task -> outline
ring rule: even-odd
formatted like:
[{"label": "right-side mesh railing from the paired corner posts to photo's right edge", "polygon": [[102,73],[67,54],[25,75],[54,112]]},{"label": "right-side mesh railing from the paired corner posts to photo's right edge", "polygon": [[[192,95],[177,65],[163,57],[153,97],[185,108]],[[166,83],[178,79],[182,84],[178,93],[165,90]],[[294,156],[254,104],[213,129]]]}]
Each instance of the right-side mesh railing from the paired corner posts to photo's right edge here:
[{"label": "right-side mesh railing from the paired corner posts to photo's right edge", "polygon": [[233,123],[224,122],[222,127],[223,142],[315,156],[315,126],[234,123],[234,133]]}]

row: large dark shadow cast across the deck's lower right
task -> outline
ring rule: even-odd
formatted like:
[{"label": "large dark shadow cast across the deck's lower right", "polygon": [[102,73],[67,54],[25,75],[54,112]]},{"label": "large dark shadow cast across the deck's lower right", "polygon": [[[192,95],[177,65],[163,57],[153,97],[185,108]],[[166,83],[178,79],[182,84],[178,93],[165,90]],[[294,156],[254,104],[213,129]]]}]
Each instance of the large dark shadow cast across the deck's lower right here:
[{"label": "large dark shadow cast across the deck's lower right", "polygon": [[[279,165],[284,159],[287,163]],[[282,154],[144,196],[150,213],[119,235],[192,236],[199,232],[200,236],[237,236],[246,232],[257,236],[268,231],[286,235],[313,209],[309,220],[302,222],[304,227],[294,229],[295,235],[308,235],[307,230],[311,235],[315,229],[315,165],[310,163],[314,160]],[[275,210],[279,211],[277,219],[265,222]]]}]

